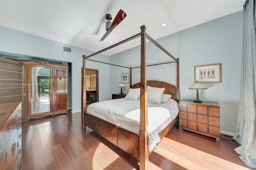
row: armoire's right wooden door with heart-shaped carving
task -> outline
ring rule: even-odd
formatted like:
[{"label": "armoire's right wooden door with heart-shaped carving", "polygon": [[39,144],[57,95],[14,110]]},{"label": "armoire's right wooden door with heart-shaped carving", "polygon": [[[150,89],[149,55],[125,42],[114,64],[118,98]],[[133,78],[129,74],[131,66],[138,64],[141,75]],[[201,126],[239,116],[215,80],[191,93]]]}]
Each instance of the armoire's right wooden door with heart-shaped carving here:
[{"label": "armoire's right wooden door with heart-shaped carving", "polygon": [[68,109],[68,78],[67,69],[65,68],[54,68],[54,112],[65,111]]}]

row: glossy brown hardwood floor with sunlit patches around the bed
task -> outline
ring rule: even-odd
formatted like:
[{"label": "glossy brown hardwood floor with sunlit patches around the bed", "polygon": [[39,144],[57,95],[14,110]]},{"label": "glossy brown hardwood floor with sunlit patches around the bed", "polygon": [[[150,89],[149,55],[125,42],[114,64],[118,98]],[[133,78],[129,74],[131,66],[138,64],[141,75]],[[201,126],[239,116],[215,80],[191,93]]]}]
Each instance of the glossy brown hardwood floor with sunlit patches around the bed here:
[{"label": "glossy brown hardwood floor with sunlit patches around the bed", "polygon": [[[81,113],[30,119],[22,124],[22,170],[133,170],[138,161],[91,129],[81,129]],[[221,137],[221,143],[175,127],[149,157],[150,170],[252,169]]]}]

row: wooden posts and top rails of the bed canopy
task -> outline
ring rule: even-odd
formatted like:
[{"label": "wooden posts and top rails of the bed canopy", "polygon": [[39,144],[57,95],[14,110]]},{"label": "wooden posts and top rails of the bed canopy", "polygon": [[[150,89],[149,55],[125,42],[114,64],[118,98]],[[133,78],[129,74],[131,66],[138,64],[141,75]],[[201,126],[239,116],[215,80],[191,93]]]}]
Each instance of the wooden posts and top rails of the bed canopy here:
[{"label": "wooden posts and top rails of the bed canopy", "polygon": [[[83,57],[83,68],[82,68],[82,99],[81,99],[81,106],[82,106],[82,129],[86,128],[85,125],[85,112],[86,112],[86,79],[84,75],[86,75],[86,60],[88,61],[94,61],[98,63],[104,63],[104,64],[110,64],[114,66],[120,66],[124,68],[130,69],[130,88],[132,87],[132,68],[141,68],[140,69],[140,135],[139,135],[139,160],[140,160],[140,170],[148,169],[148,156],[149,156],[149,150],[148,150],[148,106],[147,106],[147,79],[146,79],[146,67],[147,66],[155,66],[160,64],[168,64],[168,63],[177,63],[177,82],[176,82],[176,96],[175,99],[178,102],[180,100],[180,93],[179,93],[179,59],[176,59],[173,57],[166,49],[164,49],[161,45],[159,45],[154,39],[152,39],[148,34],[146,34],[146,26],[142,25],[140,27],[141,32],[128,38],[123,41],[120,41],[119,43],[116,43],[114,45],[111,45],[110,47],[107,47],[105,49],[102,49],[96,53],[93,53],[86,57],[86,55],[82,55]],[[104,51],[107,51],[109,49],[112,49],[118,45],[121,45],[123,43],[126,43],[128,41],[131,41],[135,38],[141,37],[141,45],[140,45],[140,62],[141,65],[138,67],[127,67],[127,66],[121,66],[117,64],[111,64],[111,63],[105,63],[102,61],[96,61],[92,59],[88,59],[94,55],[100,54]],[[168,56],[170,56],[174,61],[166,62],[166,63],[159,63],[159,64],[150,64],[146,65],[146,39],[148,39],[150,42],[152,42],[156,47],[161,49],[164,53],[166,53]]]}]

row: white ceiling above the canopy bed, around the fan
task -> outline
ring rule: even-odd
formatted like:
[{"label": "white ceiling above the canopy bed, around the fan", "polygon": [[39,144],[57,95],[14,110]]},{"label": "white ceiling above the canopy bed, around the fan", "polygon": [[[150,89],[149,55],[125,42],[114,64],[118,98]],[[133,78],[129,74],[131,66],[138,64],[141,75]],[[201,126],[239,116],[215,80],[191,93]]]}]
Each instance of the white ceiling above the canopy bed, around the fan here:
[{"label": "white ceiling above the canopy bed, around the fan", "polygon": [[[100,51],[128,37],[146,33],[153,39],[243,10],[245,0],[1,0],[0,24],[33,35]],[[105,15],[112,21],[122,9],[127,17],[99,42]],[[166,23],[166,27],[161,27]],[[138,46],[130,41],[105,52],[112,55]],[[86,54],[90,55],[90,54]]]}]

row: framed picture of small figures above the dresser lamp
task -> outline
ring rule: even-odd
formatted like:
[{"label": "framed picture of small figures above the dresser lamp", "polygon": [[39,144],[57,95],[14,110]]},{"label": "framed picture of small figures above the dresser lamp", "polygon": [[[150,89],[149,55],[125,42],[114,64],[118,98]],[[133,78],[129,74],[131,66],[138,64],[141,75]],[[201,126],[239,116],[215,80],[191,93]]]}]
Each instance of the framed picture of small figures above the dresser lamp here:
[{"label": "framed picture of small figures above the dresser lamp", "polygon": [[195,82],[214,83],[221,82],[220,64],[195,66]]}]

